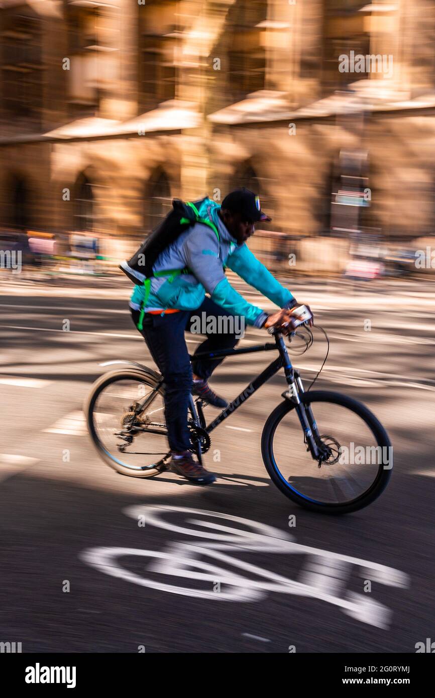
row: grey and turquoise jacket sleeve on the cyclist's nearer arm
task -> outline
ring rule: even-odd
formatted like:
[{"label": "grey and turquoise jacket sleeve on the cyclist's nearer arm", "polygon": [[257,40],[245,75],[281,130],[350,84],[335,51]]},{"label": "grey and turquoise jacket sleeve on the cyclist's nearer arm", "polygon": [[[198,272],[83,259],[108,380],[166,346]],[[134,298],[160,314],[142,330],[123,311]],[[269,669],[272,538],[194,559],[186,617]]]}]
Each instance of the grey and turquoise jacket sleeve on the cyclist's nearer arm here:
[{"label": "grey and turquoise jacket sleeve on the cyclist's nearer arm", "polygon": [[[219,259],[219,242],[207,225],[196,225],[193,235],[186,238],[184,255],[186,266],[204,286],[212,300],[232,315],[243,315],[248,325],[263,327],[267,313],[248,303],[230,285]],[[196,233],[196,234],[195,234]]]}]

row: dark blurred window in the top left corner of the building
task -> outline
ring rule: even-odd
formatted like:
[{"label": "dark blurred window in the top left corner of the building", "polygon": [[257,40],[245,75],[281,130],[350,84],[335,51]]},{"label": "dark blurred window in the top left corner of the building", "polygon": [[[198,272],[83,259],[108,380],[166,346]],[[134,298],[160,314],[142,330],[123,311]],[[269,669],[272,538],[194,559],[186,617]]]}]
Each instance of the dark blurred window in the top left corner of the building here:
[{"label": "dark blurred window in the top left corner of the building", "polygon": [[30,8],[1,10],[1,80],[6,116],[39,121],[43,99],[40,17]]}]

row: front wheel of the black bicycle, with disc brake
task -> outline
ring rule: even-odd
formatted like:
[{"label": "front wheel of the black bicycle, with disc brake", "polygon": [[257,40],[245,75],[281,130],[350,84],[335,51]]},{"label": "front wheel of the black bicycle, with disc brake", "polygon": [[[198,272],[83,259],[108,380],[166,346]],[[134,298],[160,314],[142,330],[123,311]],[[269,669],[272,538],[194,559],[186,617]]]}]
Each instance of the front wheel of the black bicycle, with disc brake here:
[{"label": "front wheel of the black bicycle, with disc brake", "polygon": [[286,400],[263,429],[267,473],[281,492],[306,509],[347,514],[366,507],[383,492],[392,473],[392,447],[381,422],[362,403],[340,393],[318,390],[300,398],[311,409],[313,432],[330,456],[319,467],[295,405]]}]

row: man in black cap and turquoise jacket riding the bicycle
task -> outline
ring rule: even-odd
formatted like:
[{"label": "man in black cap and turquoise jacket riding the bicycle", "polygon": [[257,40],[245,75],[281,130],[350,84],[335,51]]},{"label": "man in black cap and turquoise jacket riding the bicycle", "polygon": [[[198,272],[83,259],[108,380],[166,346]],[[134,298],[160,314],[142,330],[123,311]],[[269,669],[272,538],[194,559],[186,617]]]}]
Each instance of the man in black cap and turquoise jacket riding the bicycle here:
[{"label": "man in black cap and turquoise jacket riding the bicycle", "polygon": [[[196,223],[158,256],[153,267],[158,276],[152,278],[141,334],[164,378],[170,468],[191,482],[210,484],[216,477],[193,459],[189,450],[188,406],[190,394],[214,407],[228,405],[208,383],[221,361],[194,359],[191,364],[184,331],[191,327],[194,315],[202,317],[205,312],[207,320],[239,315],[248,325],[277,327],[286,332],[291,329],[300,304],[246,245],[255,232],[255,223],[272,220],[261,210],[255,193],[246,188],[236,189],[223,199],[221,206],[206,199],[200,217],[214,223],[217,234],[208,225]],[[280,310],[270,315],[247,302],[228,282],[225,267],[272,300]],[[168,280],[161,274],[165,269],[188,269],[189,273]],[[143,287],[136,286],[130,300],[136,326],[144,293]],[[207,339],[195,354],[233,348],[238,341],[235,333],[205,334]]]}]

